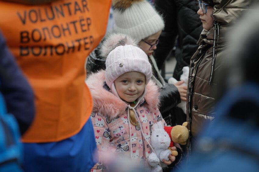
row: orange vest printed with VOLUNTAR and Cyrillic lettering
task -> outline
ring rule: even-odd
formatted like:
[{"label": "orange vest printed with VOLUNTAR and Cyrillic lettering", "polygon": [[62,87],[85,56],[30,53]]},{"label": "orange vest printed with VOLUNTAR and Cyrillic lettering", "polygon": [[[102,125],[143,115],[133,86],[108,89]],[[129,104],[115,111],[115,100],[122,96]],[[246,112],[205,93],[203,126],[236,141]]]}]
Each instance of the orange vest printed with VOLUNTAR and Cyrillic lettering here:
[{"label": "orange vest printed with VOLUNTAR and Cyrillic lettering", "polygon": [[64,140],[88,120],[92,98],[84,64],[105,35],[110,6],[111,0],[0,1],[0,28],[36,99],[24,143]]}]

